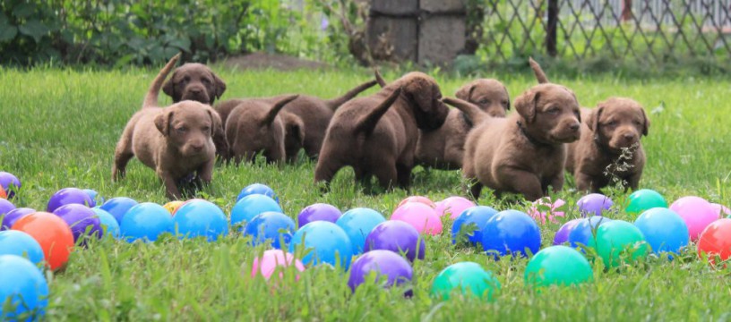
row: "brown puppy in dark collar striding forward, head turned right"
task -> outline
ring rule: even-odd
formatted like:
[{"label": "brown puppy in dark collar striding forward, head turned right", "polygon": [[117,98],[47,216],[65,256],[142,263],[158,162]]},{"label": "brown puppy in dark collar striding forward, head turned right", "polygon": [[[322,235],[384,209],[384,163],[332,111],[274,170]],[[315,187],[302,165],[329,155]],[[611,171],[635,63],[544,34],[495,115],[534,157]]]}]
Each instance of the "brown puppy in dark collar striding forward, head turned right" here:
[{"label": "brown puppy in dark collar striding forward, head turned right", "polygon": [[563,188],[564,143],[581,134],[579,103],[570,89],[555,84],[535,86],[515,99],[507,118],[487,118],[470,131],[465,143],[462,171],[473,181],[471,194],[482,186],[517,192],[535,200],[548,186]]}]

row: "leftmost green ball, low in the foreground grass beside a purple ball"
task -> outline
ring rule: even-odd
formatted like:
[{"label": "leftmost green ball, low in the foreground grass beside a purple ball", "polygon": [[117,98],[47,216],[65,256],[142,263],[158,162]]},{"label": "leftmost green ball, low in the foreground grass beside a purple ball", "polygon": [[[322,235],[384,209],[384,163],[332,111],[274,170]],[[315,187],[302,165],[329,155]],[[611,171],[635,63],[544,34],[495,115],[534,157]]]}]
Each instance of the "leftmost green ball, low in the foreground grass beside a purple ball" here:
[{"label": "leftmost green ball, low in the foreground grass beside a purple ball", "polygon": [[432,296],[443,301],[449,300],[453,290],[458,287],[464,295],[492,301],[495,291],[500,290],[500,282],[477,263],[456,263],[436,275],[432,284]]}]

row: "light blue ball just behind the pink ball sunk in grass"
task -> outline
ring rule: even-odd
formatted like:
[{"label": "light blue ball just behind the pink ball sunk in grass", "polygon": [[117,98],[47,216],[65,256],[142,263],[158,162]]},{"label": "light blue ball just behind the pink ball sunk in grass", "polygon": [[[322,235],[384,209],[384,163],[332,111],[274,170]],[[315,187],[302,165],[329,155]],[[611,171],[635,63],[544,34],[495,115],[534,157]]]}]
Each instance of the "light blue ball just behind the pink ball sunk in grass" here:
[{"label": "light blue ball just behind the pink ball sunk in grass", "polygon": [[333,267],[350,267],[353,245],[340,226],[328,221],[315,221],[302,226],[292,236],[289,252],[294,253],[297,246],[304,245],[305,265],[330,264]]}]

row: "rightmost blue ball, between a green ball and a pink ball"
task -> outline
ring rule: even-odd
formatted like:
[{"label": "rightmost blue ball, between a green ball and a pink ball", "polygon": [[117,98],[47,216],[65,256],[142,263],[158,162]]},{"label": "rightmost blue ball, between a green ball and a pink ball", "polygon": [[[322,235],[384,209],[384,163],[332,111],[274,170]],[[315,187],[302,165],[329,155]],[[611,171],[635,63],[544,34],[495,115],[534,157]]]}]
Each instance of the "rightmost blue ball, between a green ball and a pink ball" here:
[{"label": "rightmost blue ball, between a green ball and a pink ball", "polygon": [[634,220],[634,225],[656,254],[680,253],[691,238],[683,218],[668,208],[650,208]]}]

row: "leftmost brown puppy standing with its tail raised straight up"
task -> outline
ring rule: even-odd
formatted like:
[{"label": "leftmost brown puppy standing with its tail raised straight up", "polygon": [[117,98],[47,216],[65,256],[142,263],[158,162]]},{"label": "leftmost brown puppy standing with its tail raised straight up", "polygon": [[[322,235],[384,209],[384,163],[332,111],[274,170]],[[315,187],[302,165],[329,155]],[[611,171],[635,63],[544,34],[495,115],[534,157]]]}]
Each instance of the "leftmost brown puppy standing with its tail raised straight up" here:
[{"label": "leftmost brown puppy standing with its tail raised straight up", "polygon": [[220,127],[219,115],[199,102],[186,100],[159,108],[160,86],[178,58],[173,57],[152,81],[142,110],[132,116],[116,144],[112,167],[112,179],[122,178],[127,163],[136,156],[155,169],[171,199],[182,198],[177,182],[193,173],[196,181],[211,182],[216,152],[211,136]]}]

